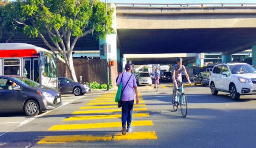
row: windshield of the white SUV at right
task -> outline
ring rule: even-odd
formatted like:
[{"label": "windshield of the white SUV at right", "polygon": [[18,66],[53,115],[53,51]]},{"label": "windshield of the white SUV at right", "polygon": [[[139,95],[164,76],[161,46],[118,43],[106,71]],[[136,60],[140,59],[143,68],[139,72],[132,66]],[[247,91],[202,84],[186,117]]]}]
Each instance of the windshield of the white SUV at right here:
[{"label": "windshield of the white SUV at right", "polygon": [[229,65],[229,69],[232,74],[256,73],[256,70],[248,64]]}]

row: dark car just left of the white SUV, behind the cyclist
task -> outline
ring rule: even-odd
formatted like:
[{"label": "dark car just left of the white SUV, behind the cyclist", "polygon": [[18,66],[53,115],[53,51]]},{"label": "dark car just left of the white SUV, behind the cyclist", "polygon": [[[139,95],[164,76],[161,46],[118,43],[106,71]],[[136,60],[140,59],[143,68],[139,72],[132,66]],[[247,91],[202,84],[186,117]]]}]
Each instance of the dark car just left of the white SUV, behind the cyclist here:
[{"label": "dark car just left of the white SUV, behind the cyclist", "polygon": [[201,86],[209,85],[210,72],[199,72],[194,76],[194,84],[201,84]]}]

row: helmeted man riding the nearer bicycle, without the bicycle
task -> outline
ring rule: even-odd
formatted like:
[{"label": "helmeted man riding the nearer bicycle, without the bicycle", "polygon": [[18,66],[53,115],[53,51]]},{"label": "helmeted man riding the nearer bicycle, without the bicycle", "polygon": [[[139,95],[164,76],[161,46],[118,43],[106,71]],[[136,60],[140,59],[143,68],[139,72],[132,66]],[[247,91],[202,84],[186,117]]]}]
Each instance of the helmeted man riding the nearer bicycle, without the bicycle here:
[{"label": "helmeted man riding the nearer bicycle, without the bicycle", "polygon": [[182,58],[177,58],[176,59],[176,63],[173,68],[172,68],[172,82],[174,84],[174,98],[175,98],[175,102],[174,105],[177,105],[177,89],[181,87],[181,83],[182,83],[182,72],[185,73],[186,78],[188,80],[188,83],[190,84],[190,80],[189,80],[189,76],[188,73],[186,71],[186,68],[184,65],[182,65]]}]

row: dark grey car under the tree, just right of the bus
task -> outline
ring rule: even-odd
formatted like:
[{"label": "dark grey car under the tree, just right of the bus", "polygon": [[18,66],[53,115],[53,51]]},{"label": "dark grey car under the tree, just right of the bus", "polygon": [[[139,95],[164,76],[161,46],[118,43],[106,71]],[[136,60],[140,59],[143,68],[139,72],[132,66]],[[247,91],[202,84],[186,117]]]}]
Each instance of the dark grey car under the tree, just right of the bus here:
[{"label": "dark grey car under the tree, just right of the bus", "polygon": [[61,94],[74,94],[84,95],[91,91],[89,84],[75,82],[74,80],[66,77],[58,77],[60,81],[60,93]]}]

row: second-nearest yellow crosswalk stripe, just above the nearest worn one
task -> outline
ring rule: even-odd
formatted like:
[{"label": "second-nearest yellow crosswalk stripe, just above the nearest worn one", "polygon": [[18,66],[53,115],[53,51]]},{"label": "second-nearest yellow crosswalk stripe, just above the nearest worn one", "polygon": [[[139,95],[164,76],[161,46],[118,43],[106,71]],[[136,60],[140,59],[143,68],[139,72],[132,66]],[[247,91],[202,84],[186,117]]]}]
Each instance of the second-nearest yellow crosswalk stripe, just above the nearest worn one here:
[{"label": "second-nearest yellow crosswalk stripe, just above the nearest worn one", "polygon": [[[62,124],[54,125],[47,131],[53,130],[79,130],[79,129],[93,129],[93,128],[112,128],[120,127],[122,122],[105,122],[105,123],[87,123],[87,124]],[[132,126],[150,126],[153,125],[151,120],[132,121]]]}]

